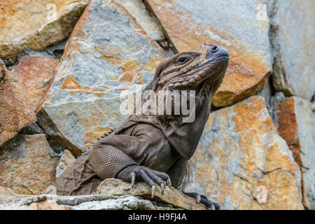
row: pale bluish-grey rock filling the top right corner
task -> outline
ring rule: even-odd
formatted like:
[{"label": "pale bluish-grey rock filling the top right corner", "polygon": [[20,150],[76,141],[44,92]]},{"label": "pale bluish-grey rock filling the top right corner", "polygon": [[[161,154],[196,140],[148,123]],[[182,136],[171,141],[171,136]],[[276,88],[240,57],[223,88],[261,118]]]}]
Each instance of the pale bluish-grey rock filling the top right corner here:
[{"label": "pale bluish-grey rock filling the top right corner", "polygon": [[267,1],[274,88],[311,100],[315,90],[314,1]]}]

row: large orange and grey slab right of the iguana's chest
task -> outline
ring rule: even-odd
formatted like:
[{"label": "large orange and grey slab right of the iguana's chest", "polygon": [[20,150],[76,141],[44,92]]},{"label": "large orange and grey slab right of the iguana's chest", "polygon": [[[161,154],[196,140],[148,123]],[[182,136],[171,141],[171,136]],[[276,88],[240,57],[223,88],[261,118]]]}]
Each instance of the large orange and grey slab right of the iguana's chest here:
[{"label": "large orange and grey slab right of the iguana's chest", "polygon": [[210,114],[185,190],[222,209],[303,209],[300,169],[262,97]]}]

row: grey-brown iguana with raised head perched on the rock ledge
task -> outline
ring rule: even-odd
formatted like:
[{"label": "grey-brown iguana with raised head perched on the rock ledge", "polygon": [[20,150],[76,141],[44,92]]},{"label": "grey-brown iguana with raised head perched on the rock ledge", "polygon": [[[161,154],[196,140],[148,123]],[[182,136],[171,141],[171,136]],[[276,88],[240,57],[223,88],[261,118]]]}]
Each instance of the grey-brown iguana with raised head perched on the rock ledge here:
[{"label": "grey-brown iguana with raised head perched on the rock ledge", "polygon": [[[228,67],[225,48],[204,43],[200,50],[179,52],[161,62],[146,90],[195,90],[195,120],[182,115],[131,115],[99,139],[55,181],[58,195],[93,193],[104,179],[145,181],[152,187],[178,188],[211,111],[211,98]],[[219,208],[204,195],[185,193],[208,207]]]}]

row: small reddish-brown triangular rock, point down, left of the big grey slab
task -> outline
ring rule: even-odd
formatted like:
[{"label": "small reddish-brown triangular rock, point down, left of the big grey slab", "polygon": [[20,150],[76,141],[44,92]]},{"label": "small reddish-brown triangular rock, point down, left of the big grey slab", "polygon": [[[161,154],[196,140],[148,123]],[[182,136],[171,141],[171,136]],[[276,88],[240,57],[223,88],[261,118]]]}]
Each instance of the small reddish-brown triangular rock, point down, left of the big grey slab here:
[{"label": "small reddish-brown triangular rock, point down, left of the big grey slab", "polygon": [[48,90],[57,64],[57,59],[27,56],[22,57],[18,66],[15,66],[12,71],[22,80],[22,85],[25,86],[28,95],[27,99],[34,111],[38,111],[41,107],[43,96]]}]

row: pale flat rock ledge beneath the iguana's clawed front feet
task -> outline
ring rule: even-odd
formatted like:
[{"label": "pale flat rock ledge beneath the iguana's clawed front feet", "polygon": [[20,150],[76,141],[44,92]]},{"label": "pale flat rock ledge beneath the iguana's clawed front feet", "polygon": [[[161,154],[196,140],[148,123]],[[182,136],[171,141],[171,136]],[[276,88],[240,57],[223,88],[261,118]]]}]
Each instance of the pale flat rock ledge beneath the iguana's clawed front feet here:
[{"label": "pale flat rock ledge beneath the iguana's clawed front feet", "polygon": [[0,186],[0,209],[5,210],[204,210],[204,204],[192,197],[183,195],[179,190],[160,187],[151,198],[151,187],[146,183],[130,183],[118,179],[103,181],[97,193],[92,195],[20,195]]}]

